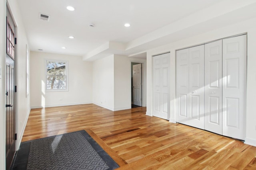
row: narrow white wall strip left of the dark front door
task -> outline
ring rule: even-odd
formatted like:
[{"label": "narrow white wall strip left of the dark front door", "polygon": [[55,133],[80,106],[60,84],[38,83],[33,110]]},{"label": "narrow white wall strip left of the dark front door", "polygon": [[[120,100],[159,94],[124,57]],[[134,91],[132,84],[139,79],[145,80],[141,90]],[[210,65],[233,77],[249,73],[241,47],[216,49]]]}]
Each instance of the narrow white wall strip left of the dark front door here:
[{"label": "narrow white wall strip left of the dark front door", "polygon": [[[6,36],[6,1],[0,0],[0,37]],[[5,169],[5,140],[6,140],[6,115],[5,115],[5,48],[6,39],[0,39],[0,66],[2,67],[2,78],[0,79],[0,169]]]}]

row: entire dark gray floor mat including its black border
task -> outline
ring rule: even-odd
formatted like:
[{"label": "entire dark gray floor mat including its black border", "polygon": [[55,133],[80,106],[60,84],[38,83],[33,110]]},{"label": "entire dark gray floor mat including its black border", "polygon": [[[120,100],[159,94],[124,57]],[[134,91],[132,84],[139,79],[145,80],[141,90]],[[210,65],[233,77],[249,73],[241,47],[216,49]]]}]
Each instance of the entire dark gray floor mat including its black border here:
[{"label": "entire dark gray floor mat including its black border", "polygon": [[13,170],[113,170],[119,167],[86,131],[24,142],[15,162]]}]

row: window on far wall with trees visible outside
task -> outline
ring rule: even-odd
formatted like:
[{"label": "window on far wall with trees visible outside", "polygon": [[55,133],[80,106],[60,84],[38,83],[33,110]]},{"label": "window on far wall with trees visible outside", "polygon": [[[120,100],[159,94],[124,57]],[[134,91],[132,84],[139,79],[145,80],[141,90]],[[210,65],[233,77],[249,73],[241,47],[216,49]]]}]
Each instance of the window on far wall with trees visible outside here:
[{"label": "window on far wall with trees visible outside", "polygon": [[46,91],[67,91],[67,61],[46,61]]}]

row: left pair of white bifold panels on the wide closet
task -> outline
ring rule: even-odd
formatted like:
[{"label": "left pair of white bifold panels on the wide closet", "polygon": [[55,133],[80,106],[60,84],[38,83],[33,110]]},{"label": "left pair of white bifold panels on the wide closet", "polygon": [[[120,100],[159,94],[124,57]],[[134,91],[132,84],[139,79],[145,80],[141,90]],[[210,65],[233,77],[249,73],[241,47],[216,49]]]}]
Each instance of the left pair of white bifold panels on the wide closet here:
[{"label": "left pair of white bifold panels on the wide closet", "polygon": [[204,129],[204,45],[176,51],[176,121]]}]

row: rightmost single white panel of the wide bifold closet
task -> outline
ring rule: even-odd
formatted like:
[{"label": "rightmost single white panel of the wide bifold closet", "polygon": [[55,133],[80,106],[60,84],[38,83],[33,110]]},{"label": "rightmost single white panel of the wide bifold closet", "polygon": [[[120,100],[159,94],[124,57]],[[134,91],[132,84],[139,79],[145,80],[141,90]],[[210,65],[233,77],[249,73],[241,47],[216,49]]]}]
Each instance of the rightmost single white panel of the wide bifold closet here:
[{"label": "rightmost single white panel of the wide bifold closet", "polygon": [[223,39],[223,135],[245,138],[246,35]]}]

